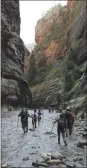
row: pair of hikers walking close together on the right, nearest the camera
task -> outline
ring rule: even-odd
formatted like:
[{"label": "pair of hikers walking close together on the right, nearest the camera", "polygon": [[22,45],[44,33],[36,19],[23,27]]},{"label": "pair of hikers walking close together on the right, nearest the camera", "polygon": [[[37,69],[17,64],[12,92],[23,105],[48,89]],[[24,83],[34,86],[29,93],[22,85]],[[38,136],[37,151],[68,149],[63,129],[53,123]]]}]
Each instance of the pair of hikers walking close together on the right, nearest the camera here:
[{"label": "pair of hikers walking close together on the right, nearest the camera", "polygon": [[68,131],[69,135],[72,134],[73,131],[73,124],[74,124],[75,114],[72,112],[70,107],[67,107],[66,109],[63,109],[59,118],[57,118],[53,124],[57,124],[57,133],[58,133],[58,144],[60,144],[60,134],[62,134],[64,144],[67,146],[66,138],[68,137]]}]

